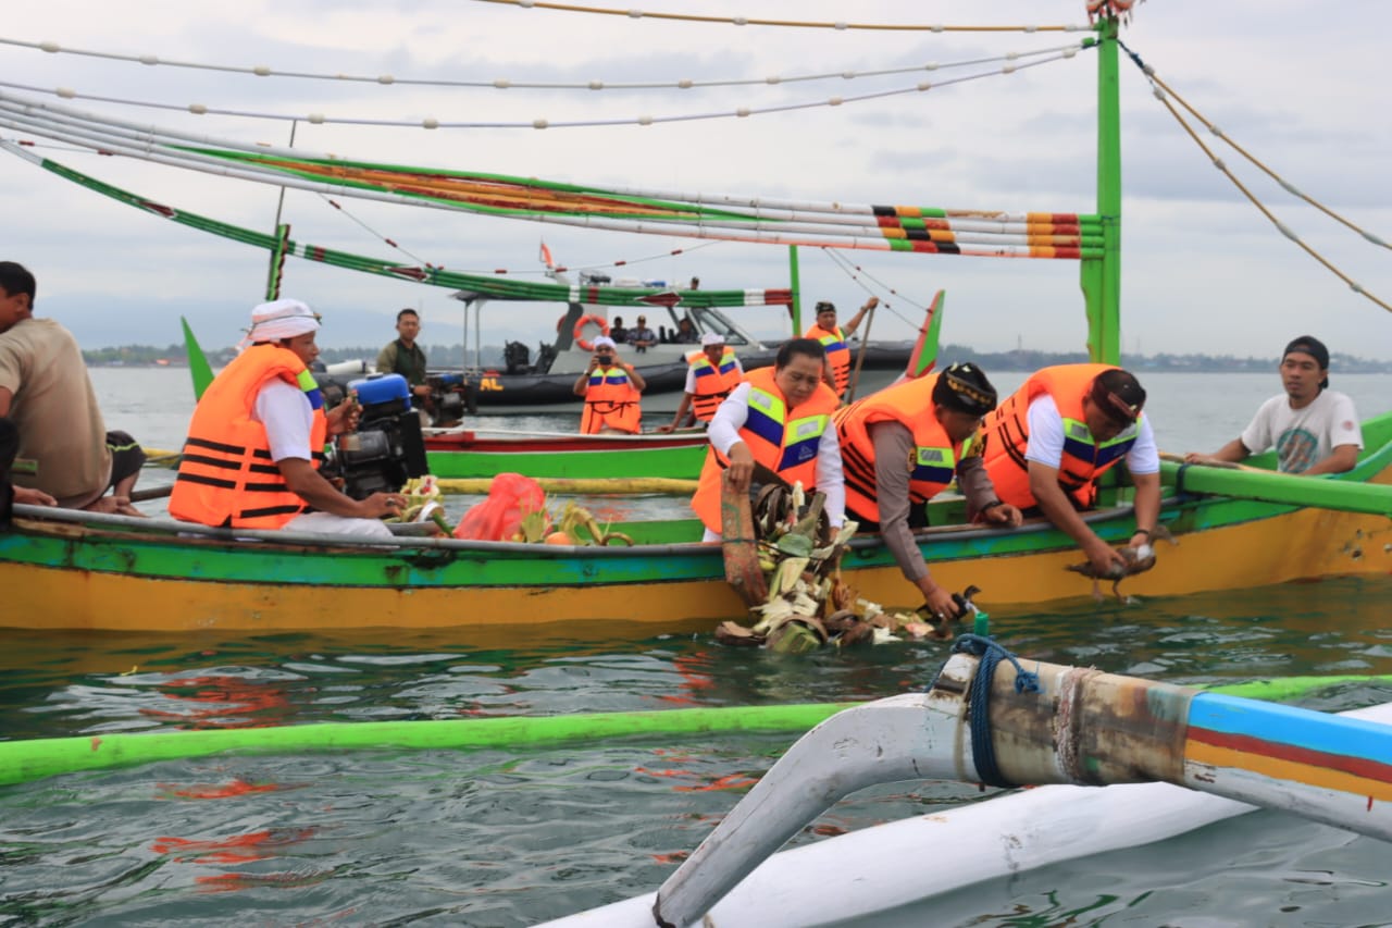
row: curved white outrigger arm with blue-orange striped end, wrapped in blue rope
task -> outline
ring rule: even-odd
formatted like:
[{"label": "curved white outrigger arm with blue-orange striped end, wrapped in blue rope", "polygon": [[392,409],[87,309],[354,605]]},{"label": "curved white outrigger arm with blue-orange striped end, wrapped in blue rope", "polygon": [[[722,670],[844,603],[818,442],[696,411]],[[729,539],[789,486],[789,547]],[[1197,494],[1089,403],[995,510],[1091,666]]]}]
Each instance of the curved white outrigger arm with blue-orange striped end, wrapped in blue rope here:
[{"label": "curved white outrigger arm with blue-orange striped end, wrapped in blue rope", "polygon": [[846,709],[793,744],[663,883],[650,924],[704,924],[799,829],[877,783],[1161,782],[1392,840],[1392,726],[1084,667],[1026,672],[976,642],[986,655],[955,654],[927,693]]}]

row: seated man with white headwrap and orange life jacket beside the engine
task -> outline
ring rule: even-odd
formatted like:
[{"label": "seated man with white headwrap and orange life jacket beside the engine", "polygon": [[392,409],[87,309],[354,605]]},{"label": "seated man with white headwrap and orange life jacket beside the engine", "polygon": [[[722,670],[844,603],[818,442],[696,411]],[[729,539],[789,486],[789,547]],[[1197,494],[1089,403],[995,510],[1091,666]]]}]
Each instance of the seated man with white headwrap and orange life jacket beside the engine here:
[{"label": "seated man with white headwrap and orange life jacket beside the engine", "polygon": [[223,528],[390,538],[380,521],[401,493],[355,500],[319,465],[324,442],[358,428],[358,404],[324,412],[309,365],[319,315],[299,300],[252,309],[251,346],[223,368],[193,408],[170,516]]}]

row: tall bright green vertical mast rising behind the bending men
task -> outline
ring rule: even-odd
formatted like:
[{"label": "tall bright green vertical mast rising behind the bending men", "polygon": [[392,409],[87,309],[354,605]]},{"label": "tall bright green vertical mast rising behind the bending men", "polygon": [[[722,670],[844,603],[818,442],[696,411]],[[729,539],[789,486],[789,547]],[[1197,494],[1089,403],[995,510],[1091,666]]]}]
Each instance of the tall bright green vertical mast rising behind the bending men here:
[{"label": "tall bright green vertical mast rising behind the bending men", "polygon": [[1087,311],[1087,354],[1096,364],[1121,364],[1122,288],[1122,142],[1116,31],[1119,21],[1097,25],[1097,215],[1102,254],[1083,256],[1079,283]]}]

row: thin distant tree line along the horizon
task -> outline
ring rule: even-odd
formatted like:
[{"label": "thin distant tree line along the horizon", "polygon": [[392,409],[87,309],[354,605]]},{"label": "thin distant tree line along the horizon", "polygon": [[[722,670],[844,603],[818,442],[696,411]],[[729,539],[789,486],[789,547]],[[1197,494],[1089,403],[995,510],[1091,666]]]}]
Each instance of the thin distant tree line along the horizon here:
[{"label": "thin distant tree line along the horizon", "polygon": [[[381,346],[355,346],[347,348],[323,348],[320,359],[324,364],[338,361],[366,359],[376,361]],[[430,358],[433,368],[464,366],[464,346],[422,346]],[[209,350],[205,353],[209,364],[220,368],[237,355],[232,347]],[[148,344],[127,344],[113,348],[93,348],[84,351],[82,357],[92,366],[153,366],[171,365],[187,366],[188,355],[184,346],[171,344],[166,347]],[[503,346],[484,346],[480,351],[484,365],[503,365]],[[976,351],[965,344],[945,344],[938,351],[942,362],[974,361],[986,371],[1037,371],[1052,364],[1079,364],[1087,361],[1083,351]],[[473,351],[469,351],[469,364],[473,364]],[[1193,372],[1271,372],[1275,369],[1276,358],[1239,358],[1231,354],[1128,354],[1122,353],[1122,366],[1134,371],[1193,371]],[[1335,353],[1329,362],[1335,371],[1345,373],[1392,373],[1392,361],[1368,361],[1350,354]]]}]

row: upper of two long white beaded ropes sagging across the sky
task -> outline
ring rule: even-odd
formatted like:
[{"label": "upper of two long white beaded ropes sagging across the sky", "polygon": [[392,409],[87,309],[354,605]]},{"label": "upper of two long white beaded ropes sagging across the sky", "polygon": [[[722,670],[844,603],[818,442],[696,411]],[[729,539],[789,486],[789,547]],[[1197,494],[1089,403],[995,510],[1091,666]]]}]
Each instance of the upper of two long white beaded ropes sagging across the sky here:
[{"label": "upper of two long white beaded ropes sagging across the sky", "polygon": [[7,39],[3,36],[0,36],[0,45],[8,45],[21,49],[35,49],[39,52],[47,52],[50,54],[77,54],[92,59],[103,59],[109,61],[125,61],[131,64],[139,64],[142,67],[161,65],[170,68],[220,71],[224,74],[245,74],[251,77],[263,77],[263,78],[298,78],[309,81],[338,81],[348,84],[379,84],[383,86],[391,86],[400,84],[406,86],[483,88],[496,91],[514,91],[514,89],[585,91],[587,93],[594,91],[660,91],[660,89],[690,91],[709,86],[757,86],[757,85],[777,85],[777,84],[799,84],[806,81],[853,81],[856,78],[889,77],[896,74],[915,74],[917,71],[940,71],[947,68],[960,68],[977,64],[1018,61],[1020,59],[1051,54],[1051,53],[1058,54],[1068,50],[1077,53],[1083,47],[1080,42],[1073,42],[1069,45],[1055,46],[1050,49],[1037,49],[1031,52],[1009,52],[1006,54],[999,54],[986,59],[966,59],[962,61],[924,61],[923,64],[913,64],[899,68],[883,68],[874,71],[856,71],[852,68],[841,68],[838,71],[823,71],[816,74],[792,74],[792,75],[771,74],[761,78],[720,78],[713,81],[693,81],[689,78],[664,79],[664,81],[593,79],[593,81],[565,84],[557,81],[526,81],[515,78],[450,79],[450,78],[408,78],[408,77],[395,77],[393,74],[327,74],[320,71],[287,71],[281,68],[271,68],[264,64],[232,65],[232,64],[210,64],[206,61],[182,61],[177,59],[166,59],[157,54],[121,54],[116,52],[99,52],[93,49],[71,49],[57,42],[24,42],[21,39]]}]

